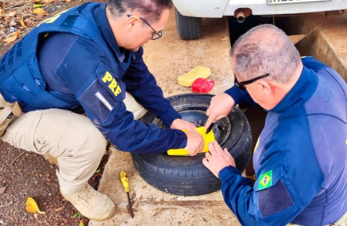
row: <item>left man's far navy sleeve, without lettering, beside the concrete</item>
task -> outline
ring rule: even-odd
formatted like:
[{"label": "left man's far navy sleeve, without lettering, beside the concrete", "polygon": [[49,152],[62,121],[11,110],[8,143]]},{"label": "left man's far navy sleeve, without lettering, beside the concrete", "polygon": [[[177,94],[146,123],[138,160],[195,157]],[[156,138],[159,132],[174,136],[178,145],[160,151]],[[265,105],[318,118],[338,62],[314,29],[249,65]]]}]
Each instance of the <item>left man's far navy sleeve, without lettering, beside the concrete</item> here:
[{"label": "left man's far navy sleeve, without lettering, beside the concrete", "polygon": [[126,84],[127,91],[166,127],[170,127],[173,120],[182,118],[170,105],[169,100],[163,97],[161,88],[156,84],[154,76],[148,71],[143,62],[143,48],[135,52],[130,67],[122,81]]}]

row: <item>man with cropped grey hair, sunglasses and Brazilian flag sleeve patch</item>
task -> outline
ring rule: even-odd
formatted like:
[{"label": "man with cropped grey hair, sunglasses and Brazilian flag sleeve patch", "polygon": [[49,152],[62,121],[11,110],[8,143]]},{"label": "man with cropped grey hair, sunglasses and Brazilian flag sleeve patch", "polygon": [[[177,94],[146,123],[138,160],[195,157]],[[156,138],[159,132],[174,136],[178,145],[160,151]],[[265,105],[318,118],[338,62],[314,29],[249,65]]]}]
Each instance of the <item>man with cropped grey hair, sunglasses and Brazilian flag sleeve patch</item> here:
[{"label": "man with cropped grey hair, sunglasses and Brazilian flag sleeve patch", "polygon": [[227,151],[209,144],[203,163],[221,180],[228,207],[247,226],[346,225],[346,83],[327,65],[301,59],[273,25],[241,36],[231,62],[235,85],[212,98],[205,126],[247,96],[268,115],[254,150],[254,185]]}]

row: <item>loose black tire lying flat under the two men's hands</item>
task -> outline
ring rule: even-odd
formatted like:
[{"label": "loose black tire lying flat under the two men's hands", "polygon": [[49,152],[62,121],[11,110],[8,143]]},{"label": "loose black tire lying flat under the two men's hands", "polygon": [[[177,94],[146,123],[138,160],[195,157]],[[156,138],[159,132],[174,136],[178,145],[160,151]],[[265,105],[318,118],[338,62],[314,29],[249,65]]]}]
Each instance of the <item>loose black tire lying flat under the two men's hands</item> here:
[{"label": "loose black tire lying flat under the two men's hands", "polygon": [[[184,120],[200,127],[205,124],[205,112],[213,95],[189,93],[171,96],[171,105],[180,112]],[[162,121],[147,113],[144,123],[163,127]],[[252,138],[249,123],[243,112],[234,107],[230,114],[218,120],[213,132],[221,147],[227,148],[234,157],[237,169],[242,172],[250,159]],[[202,195],[219,190],[221,182],[207,169],[202,159],[205,153],[194,157],[161,154],[132,154],[139,175],[151,186],[176,195]]]}]

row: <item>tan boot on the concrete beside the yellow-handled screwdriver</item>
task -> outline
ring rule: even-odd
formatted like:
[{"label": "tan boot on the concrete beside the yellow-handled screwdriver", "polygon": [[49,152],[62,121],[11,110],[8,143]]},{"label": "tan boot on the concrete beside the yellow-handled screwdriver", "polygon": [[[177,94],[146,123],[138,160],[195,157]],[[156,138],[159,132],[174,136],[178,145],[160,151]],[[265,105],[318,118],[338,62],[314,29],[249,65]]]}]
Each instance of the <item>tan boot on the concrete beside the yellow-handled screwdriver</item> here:
[{"label": "tan boot on the concrete beside the yellow-handled screwdriver", "polygon": [[116,211],[115,203],[107,195],[96,191],[91,185],[86,184],[80,191],[73,195],[62,196],[82,214],[94,220],[107,220]]}]

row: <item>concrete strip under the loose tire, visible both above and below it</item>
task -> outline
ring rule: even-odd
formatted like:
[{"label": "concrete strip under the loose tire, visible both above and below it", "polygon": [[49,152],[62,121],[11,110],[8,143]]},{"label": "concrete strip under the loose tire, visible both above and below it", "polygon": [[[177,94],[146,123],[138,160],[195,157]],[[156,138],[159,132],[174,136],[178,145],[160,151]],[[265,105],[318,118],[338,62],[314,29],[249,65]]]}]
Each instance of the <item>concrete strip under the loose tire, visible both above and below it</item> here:
[{"label": "concrete strip under the loose tire, visible both above and below it", "polygon": [[[180,40],[175,14],[164,30],[164,37],[144,46],[144,60],[155,75],[164,96],[192,92],[178,85],[177,77],[198,65],[211,68],[219,93],[233,84],[230,74],[230,40],[226,18],[203,20],[203,37],[196,41]],[[119,179],[121,170],[129,176],[134,218],[127,209],[128,200]],[[116,214],[106,221],[91,220],[89,225],[240,225],[225,205],[220,191],[201,196],[171,195],[147,184],[136,172],[129,153],[112,149],[99,191],[117,205]]]}]

